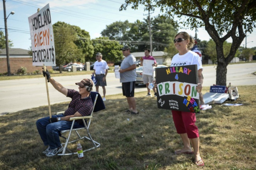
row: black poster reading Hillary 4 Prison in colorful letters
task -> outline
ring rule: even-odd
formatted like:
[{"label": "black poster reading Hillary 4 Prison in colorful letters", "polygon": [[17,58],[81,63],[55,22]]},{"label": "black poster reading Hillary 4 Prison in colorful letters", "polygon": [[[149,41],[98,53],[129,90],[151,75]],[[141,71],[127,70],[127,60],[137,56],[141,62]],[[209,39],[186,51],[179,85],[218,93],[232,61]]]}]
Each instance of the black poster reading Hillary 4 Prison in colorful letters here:
[{"label": "black poster reading Hillary 4 Prison in colorful letters", "polygon": [[197,65],[156,68],[158,108],[200,113]]}]

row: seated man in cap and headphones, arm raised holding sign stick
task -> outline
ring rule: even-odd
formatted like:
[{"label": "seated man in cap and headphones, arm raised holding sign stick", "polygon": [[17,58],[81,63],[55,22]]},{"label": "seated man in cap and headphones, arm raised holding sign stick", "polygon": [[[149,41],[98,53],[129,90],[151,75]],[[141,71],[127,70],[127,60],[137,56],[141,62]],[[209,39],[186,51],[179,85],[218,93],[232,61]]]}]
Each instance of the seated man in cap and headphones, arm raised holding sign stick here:
[{"label": "seated man in cap and headphones, arm raised holding sign stick", "polygon": [[[81,82],[77,82],[76,84],[79,86],[79,91],[76,91],[67,89],[56,82],[47,70],[43,71],[43,75],[46,75],[48,82],[50,82],[56,90],[72,99],[65,113],[61,115],[53,115],[52,118],[45,117],[36,122],[39,135],[45,146],[47,146],[43,154],[47,157],[52,157],[63,150],[63,146],[59,139],[59,132],[71,128],[72,121],[69,121],[70,117],[81,117],[91,114],[93,110],[93,101],[91,99],[90,91],[93,88],[93,81],[90,79],[83,79]],[[76,120],[74,128],[82,127],[84,127],[82,120]]]}]

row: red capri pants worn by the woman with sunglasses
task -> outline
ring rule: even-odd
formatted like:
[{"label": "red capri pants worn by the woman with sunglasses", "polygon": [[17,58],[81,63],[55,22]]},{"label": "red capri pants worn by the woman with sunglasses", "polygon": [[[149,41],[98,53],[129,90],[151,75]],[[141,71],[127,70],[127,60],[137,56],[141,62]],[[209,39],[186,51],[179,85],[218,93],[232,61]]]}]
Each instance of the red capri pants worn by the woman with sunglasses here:
[{"label": "red capri pants worn by the woman with sunglasses", "polygon": [[174,125],[178,134],[187,133],[187,137],[189,139],[199,137],[198,128],[195,125],[195,113],[181,112],[176,110],[172,110],[172,113]]}]

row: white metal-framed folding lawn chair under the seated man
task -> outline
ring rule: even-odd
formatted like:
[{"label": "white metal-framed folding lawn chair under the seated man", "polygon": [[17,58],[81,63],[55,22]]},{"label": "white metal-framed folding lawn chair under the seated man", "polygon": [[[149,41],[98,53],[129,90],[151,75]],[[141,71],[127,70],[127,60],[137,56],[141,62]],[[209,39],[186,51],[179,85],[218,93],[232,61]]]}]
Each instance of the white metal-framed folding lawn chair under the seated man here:
[{"label": "white metal-framed folding lawn chair under the seated man", "polygon": [[[83,117],[71,117],[70,118],[70,121],[72,121],[72,125],[71,125],[71,128],[69,130],[62,130],[60,133],[61,133],[61,137],[63,139],[65,139],[65,143],[61,143],[62,145],[65,144],[64,146],[64,149],[62,151],[62,153],[59,153],[58,155],[72,155],[72,154],[77,154],[77,152],[72,152],[67,146],[68,144],[70,143],[74,143],[78,140],[81,140],[81,139],[88,139],[89,141],[91,141],[93,143],[93,147],[92,148],[89,148],[89,149],[84,149],[83,148],[83,152],[86,152],[86,151],[89,151],[89,150],[92,150],[92,149],[95,149],[95,148],[98,148],[100,146],[100,143],[94,141],[91,137],[91,134],[89,133],[89,127],[90,127],[90,124],[91,124],[91,119],[93,118],[93,112],[98,112],[100,110],[103,110],[105,109],[105,105],[104,105],[104,102],[102,101],[102,98],[100,96],[99,93],[95,92],[95,91],[91,91],[91,98],[93,100],[93,111],[91,112],[91,115],[89,116],[83,116]],[[97,107],[97,105],[99,107]],[[96,108],[95,108],[96,106]],[[64,112],[58,112],[57,114],[61,114],[61,113],[64,113]],[[78,119],[82,119],[83,121],[83,124],[84,124],[84,128],[76,128],[74,129],[73,126],[74,126],[74,122]],[[80,136],[80,134],[78,133],[78,131],[80,130],[85,130],[86,134],[88,136]],[[65,132],[69,132],[69,135],[68,137],[64,137],[62,135],[62,133],[65,133]],[[74,139],[73,141],[69,141],[70,140],[70,135],[72,132],[76,132],[76,135],[78,136],[76,139]],[[66,153],[66,151],[69,151],[70,153]]]}]

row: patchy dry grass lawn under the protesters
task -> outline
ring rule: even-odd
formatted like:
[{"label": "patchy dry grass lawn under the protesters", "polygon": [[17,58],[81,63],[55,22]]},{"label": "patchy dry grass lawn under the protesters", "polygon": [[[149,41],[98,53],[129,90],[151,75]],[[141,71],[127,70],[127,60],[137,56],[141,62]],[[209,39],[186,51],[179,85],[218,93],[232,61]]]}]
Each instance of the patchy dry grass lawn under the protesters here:
[{"label": "patchy dry grass lawn under the protesters", "polygon": [[[205,170],[255,170],[256,86],[239,86],[242,106],[213,104],[197,114],[200,154]],[[207,89],[207,88],[204,88]],[[205,93],[206,90],[203,91]],[[35,122],[48,116],[48,106],[0,117],[0,170],[195,170],[192,155],[174,155],[182,148],[170,110],[157,108],[156,98],[135,93],[138,115],[122,95],[109,95],[106,109],[94,113],[90,126],[96,150],[77,155],[46,157]],[[21,101],[22,102],[22,101]],[[68,102],[51,106],[52,114],[64,111]],[[80,141],[83,148],[91,147]],[[72,145],[75,149],[76,143]],[[199,169],[199,168],[198,168]]]}]

